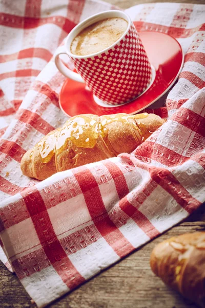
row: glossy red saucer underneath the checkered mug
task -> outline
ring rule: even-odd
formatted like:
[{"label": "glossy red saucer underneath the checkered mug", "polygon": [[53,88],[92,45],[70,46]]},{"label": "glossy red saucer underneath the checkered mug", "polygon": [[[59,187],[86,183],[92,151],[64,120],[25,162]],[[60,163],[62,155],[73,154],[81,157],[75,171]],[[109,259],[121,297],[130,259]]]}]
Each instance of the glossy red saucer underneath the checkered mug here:
[{"label": "glossy red saucer underneath the checkered mug", "polygon": [[93,94],[85,84],[67,79],[61,88],[59,105],[67,115],[94,113],[97,115],[125,112],[134,114],[153,104],[175,83],[183,65],[183,52],[180,44],[168,34],[161,32],[140,32],[150,63],[156,76],[147,91],[125,105],[103,107],[93,99]]}]

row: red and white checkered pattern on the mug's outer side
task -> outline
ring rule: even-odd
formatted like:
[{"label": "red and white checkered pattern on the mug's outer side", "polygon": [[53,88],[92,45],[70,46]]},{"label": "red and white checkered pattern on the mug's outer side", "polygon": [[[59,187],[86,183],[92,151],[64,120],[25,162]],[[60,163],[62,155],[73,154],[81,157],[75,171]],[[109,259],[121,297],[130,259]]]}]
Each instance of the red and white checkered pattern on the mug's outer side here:
[{"label": "red and white checkered pattern on the mug's outer side", "polygon": [[96,97],[110,105],[133,100],[151,82],[151,65],[133,24],[108,51],[86,59],[71,59]]}]

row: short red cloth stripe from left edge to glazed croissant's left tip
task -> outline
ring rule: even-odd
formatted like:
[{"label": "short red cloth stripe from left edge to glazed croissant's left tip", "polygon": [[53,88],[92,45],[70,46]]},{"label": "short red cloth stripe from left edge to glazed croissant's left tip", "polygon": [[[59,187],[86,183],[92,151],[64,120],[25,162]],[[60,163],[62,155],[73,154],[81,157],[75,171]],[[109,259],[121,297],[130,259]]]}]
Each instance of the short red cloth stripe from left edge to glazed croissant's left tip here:
[{"label": "short red cloth stripe from left edge to glazed croissant's left tip", "polygon": [[26,153],[26,151],[15,142],[4,139],[2,139],[0,143],[0,152],[10,156],[18,163],[20,163],[20,160]]}]

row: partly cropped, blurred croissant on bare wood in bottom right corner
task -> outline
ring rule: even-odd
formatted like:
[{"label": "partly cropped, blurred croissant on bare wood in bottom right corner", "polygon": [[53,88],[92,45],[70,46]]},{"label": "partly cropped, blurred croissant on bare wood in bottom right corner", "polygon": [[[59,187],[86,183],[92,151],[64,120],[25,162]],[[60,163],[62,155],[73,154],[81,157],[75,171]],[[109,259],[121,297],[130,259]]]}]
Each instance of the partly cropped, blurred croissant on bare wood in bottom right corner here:
[{"label": "partly cropped, blurred croissant on bare wood in bottom right corner", "polygon": [[182,234],[159,243],[150,265],[155,275],[205,307],[205,232]]}]

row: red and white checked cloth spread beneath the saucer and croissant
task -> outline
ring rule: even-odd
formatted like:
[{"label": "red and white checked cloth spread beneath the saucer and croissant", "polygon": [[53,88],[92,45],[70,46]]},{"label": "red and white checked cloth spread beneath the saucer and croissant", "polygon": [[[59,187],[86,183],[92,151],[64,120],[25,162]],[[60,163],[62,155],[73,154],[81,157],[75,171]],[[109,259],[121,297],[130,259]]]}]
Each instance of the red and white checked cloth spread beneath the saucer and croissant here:
[{"label": "red and white checked cloth spread beneath the saucer and croissant", "polygon": [[127,10],[138,30],[176,37],[185,64],[166,107],[168,121],[131,155],[60,172],[39,182],[20,159],[66,118],[65,80],[50,61],[81,20],[109,4],[7,0],[0,20],[1,260],[39,307],[187,217],[205,201],[205,6],[147,4]]}]

